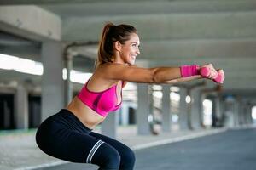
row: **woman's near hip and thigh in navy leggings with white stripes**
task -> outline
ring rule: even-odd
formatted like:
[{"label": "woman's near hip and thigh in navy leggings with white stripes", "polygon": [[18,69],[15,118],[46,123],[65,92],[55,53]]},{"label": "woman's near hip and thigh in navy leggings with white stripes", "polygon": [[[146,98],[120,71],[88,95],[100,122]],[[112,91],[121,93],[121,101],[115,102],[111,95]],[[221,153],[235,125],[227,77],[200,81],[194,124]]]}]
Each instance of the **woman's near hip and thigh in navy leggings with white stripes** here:
[{"label": "woman's near hip and thigh in navy leggings with white stripes", "polygon": [[62,115],[50,116],[38,127],[36,142],[46,154],[61,160],[119,169],[119,152],[113,146],[90,136],[90,132]]}]

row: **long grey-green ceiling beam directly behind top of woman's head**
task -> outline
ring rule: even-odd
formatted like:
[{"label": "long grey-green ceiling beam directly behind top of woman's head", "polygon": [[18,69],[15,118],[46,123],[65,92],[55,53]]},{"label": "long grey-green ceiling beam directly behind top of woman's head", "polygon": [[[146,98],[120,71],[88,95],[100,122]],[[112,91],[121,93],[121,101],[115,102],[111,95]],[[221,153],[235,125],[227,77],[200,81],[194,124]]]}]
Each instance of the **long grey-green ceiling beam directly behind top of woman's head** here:
[{"label": "long grey-green ceiling beam directly behind top of woman's head", "polygon": [[131,24],[141,41],[165,39],[255,38],[256,12],[141,14],[63,18],[64,41],[98,41],[107,21]]}]

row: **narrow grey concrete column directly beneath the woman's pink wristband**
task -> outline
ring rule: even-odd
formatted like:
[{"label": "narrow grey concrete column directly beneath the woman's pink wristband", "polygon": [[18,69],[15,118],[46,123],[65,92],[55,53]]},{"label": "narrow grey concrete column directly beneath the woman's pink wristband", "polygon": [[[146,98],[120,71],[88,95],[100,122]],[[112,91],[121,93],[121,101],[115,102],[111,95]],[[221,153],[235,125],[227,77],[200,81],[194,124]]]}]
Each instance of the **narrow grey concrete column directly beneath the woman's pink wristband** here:
[{"label": "narrow grey concrete column directly beneath the woman's pink wristband", "polygon": [[189,129],[188,105],[186,103],[186,96],[188,95],[188,90],[186,88],[179,88],[179,95],[179,128],[181,130],[187,130]]}]

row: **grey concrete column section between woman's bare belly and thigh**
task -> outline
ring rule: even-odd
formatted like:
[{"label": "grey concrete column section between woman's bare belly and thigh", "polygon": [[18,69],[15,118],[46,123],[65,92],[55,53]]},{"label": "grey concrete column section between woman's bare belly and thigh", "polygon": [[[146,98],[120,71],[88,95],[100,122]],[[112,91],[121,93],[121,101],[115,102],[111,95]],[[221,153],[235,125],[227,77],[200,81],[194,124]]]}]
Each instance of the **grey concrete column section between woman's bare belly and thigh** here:
[{"label": "grey concrete column section between woman's bare belly and thigh", "polygon": [[102,122],[102,134],[110,138],[116,139],[118,127],[119,111],[109,113],[108,117]]}]

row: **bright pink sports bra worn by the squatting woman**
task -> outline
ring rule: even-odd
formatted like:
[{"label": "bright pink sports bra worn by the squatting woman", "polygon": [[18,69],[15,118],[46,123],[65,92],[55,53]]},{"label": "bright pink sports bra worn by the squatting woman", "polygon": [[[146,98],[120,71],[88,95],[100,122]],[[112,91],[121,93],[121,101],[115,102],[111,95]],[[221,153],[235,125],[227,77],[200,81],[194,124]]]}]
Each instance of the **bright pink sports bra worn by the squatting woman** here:
[{"label": "bright pink sports bra worn by the squatting woman", "polygon": [[[84,84],[84,87],[78,94],[78,98],[93,111],[96,111],[101,116],[108,116],[109,111],[116,111],[120,108],[121,102],[117,105],[118,96],[116,94],[117,84],[102,92],[91,92],[87,88],[90,79]],[[123,88],[122,82],[122,88]],[[122,96],[122,91],[121,91]]]}]

